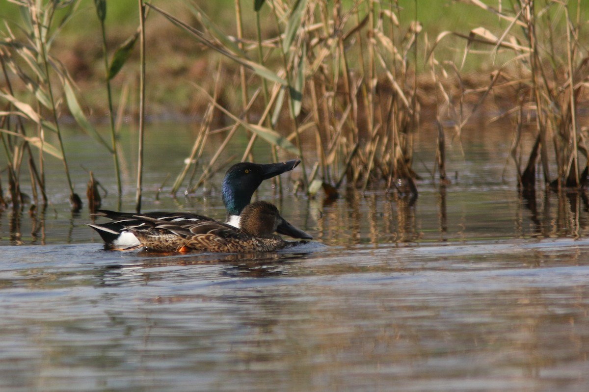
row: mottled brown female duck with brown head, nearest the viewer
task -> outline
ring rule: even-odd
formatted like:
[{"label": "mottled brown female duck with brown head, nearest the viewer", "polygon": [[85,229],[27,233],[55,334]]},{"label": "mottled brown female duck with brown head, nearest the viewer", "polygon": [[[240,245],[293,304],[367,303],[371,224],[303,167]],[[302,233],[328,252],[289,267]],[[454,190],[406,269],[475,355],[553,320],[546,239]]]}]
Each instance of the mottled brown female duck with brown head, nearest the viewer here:
[{"label": "mottled brown female duck with brown head, nearest the viewer", "polygon": [[240,215],[240,227],[213,220],[164,221],[145,215],[134,215],[144,225],[129,227],[141,245],[160,252],[207,251],[222,253],[271,252],[306,241],[284,241],[273,233],[296,238],[312,237],[284,220],[275,205],[256,201],[247,205]]}]

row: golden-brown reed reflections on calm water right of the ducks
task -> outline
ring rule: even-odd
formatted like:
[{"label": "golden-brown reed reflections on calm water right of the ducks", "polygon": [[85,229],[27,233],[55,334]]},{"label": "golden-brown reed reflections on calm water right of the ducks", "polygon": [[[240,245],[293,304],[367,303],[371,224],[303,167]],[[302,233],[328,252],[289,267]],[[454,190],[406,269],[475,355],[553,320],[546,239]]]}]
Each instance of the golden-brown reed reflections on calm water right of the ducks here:
[{"label": "golden-brown reed reflections on calm water right of the ducks", "polygon": [[[469,190],[441,185],[418,200],[384,192],[322,205],[316,235],[332,245],[416,244],[479,238],[579,238],[589,234],[586,192]],[[312,207],[308,207],[312,208]],[[527,213],[522,212],[527,211]],[[313,228],[307,225],[307,230]]]}]

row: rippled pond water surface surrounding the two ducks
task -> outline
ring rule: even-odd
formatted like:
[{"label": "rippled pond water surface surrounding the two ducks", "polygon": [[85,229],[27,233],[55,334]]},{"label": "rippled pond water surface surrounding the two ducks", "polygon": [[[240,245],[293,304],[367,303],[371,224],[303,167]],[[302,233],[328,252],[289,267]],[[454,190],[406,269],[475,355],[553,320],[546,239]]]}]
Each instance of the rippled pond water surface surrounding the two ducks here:
[{"label": "rippled pond water surface surrounding the two ducks", "polygon": [[[188,197],[166,193],[191,131],[157,129],[144,211],[222,219],[223,171]],[[415,202],[378,187],[309,199],[294,192],[300,168],[282,196],[264,183],[256,197],[315,240],[261,255],[102,250],[55,171],[46,210],[0,215],[0,389],[587,390],[587,198],[523,197],[505,140],[449,145],[445,188],[418,140]],[[107,188],[103,207],[133,210],[133,149],[119,203],[110,158],[68,141]]]}]

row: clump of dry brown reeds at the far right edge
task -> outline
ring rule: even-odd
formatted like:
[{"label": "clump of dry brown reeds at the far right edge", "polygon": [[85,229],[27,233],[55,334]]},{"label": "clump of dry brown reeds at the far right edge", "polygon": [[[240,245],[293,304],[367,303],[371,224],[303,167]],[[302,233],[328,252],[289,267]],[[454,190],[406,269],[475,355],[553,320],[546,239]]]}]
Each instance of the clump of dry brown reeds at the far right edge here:
[{"label": "clump of dry brown reeds at the far right edge", "polygon": [[[582,96],[583,84],[579,83],[586,77],[587,71],[584,67],[584,60],[578,59],[578,54],[586,49],[580,44],[578,38],[580,32],[581,8],[577,2],[577,24],[575,28],[571,21],[569,6],[566,2],[554,1],[530,1],[518,0],[512,2],[513,8],[494,9],[478,0],[470,0],[469,3],[476,5],[485,11],[492,12],[499,19],[508,23],[500,35],[495,35],[486,26],[481,26],[466,35],[460,32],[442,32],[436,38],[433,47],[430,49],[428,58],[435,51],[435,47],[447,36],[458,36],[466,39],[466,47],[462,64],[466,61],[472,45],[488,45],[492,47],[489,54],[498,58],[501,51],[502,58],[508,57],[504,64],[499,65],[498,71],[494,72],[491,84],[482,92],[479,102],[471,108],[469,113],[459,115],[459,128],[461,129],[471,118],[472,114],[482,106],[482,101],[489,92],[495,88],[505,88],[510,85],[520,85],[519,89],[526,89],[526,92],[519,91],[517,94],[517,107],[507,111],[504,115],[495,119],[517,114],[516,135],[511,146],[511,154],[518,167],[518,183],[523,187],[533,187],[535,182],[535,163],[540,158],[542,175],[545,184],[552,187],[583,187],[584,178],[580,174],[579,152],[587,157],[587,148],[584,145],[584,135],[578,128],[578,99]],[[538,9],[537,9],[538,8]],[[562,16],[564,15],[564,16]],[[554,16],[560,16],[555,19]],[[558,37],[565,36],[565,44],[559,44]],[[458,69],[455,73],[459,78]],[[514,75],[514,72],[518,75]],[[507,75],[507,79],[514,79],[512,82],[498,82],[499,76]],[[463,91],[463,94],[466,91]],[[527,99],[524,97],[529,96]],[[448,99],[452,102],[453,98]],[[452,103],[451,103],[452,104]],[[521,121],[526,117],[530,118],[530,112],[534,115],[537,140],[528,158],[527,167],[520,173],[519,163],[515,158],[519,138]],[[550,154],[551,150],[553,151]],[[550,160],[554,157],[554,163]],[[551,178],[551,165],[557,168],[557,178]],[[589,171],[589,166],[585,165]]]}]

